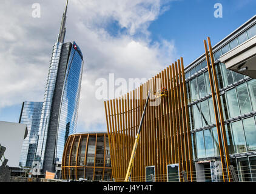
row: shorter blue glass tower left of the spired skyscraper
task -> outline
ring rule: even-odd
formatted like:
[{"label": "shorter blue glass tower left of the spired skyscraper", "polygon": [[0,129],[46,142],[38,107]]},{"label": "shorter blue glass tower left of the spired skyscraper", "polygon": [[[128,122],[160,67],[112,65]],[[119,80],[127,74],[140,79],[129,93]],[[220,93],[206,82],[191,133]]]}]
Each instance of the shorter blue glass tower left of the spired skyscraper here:
[{"label": "shorter blue glass tower left of the spired skyscraper", "polygon": [[41,119],[42,102],[23,102],[19,123],[27,124],[28,134],[24,139],[19,166],[31,167],[35,158],[36,146],[38,142],[38,130]]}]

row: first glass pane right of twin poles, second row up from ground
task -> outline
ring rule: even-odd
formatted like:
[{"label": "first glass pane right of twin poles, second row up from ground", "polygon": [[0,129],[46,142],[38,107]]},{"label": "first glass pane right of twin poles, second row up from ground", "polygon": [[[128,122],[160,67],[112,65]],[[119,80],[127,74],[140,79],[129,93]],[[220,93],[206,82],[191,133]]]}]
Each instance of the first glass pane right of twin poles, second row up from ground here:
[{"label": "first glass pane right of twin poles, second row up from ground", "polygon": [[234,138],[235,153],[246,152],[243,125],[241,121],[232,122],[232,133]]}]

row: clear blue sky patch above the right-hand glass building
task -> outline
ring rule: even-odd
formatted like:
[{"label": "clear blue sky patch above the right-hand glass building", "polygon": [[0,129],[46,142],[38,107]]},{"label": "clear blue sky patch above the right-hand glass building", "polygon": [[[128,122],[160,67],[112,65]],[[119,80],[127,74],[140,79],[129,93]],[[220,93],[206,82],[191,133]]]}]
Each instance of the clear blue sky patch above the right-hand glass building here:
[{"label": "clear blue sky patch above the right-hand glass building", "polygon": [[[218,2],[223,5],[223,18],[214,17],[214,4]],[[255,7],[254,0],[175,1],[149,30],[153,41],[175,41],[177,55],[188,65],[204,53],[203,39],[209,36],[212,45],[216,44],[254,16]]]}]

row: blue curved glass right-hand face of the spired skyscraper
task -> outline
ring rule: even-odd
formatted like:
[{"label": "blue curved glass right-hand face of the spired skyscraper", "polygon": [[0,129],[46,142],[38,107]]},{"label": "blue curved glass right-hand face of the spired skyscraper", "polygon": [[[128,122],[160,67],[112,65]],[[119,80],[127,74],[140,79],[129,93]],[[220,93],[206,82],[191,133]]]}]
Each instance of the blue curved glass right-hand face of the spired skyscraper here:
[{"label": "blue curved glass right-hand face of the spired skyscraper", "polygon": [[73,42],[64,79],[58,122],[55,158],[56,161],[59,162],[61,162],[62,159],[65,136],[76,132],[82,73],[83,55],[78,45]]}]

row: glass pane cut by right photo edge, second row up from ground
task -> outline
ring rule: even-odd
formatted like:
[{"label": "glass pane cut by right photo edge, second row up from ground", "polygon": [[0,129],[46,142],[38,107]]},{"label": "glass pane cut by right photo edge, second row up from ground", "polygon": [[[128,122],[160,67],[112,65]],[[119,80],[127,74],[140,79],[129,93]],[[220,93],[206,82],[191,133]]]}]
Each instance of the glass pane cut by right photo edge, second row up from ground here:
[{"label": "glass pane cut by right photo edge, second row up from ground", "polygon": [[256,126],[254,118],[243,119],[243,126],[248,151],[256,150]]}]

